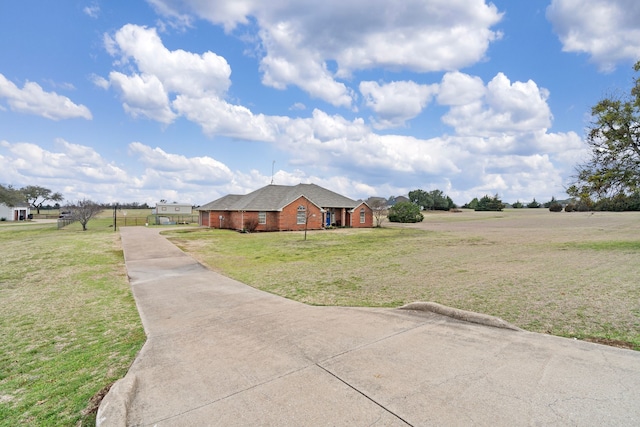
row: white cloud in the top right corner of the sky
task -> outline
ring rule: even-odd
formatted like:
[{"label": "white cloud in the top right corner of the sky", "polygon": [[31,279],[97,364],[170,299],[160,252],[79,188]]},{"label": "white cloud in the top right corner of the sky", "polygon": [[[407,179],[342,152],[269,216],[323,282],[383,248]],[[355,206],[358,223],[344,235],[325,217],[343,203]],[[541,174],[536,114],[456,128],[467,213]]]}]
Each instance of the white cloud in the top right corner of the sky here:
[{"label": "white cloud in the top right corner of the sky", "polygon": [[637,0],[553,0],[547,18],[563,51],[590,55],[602,71],[640,58]]}]

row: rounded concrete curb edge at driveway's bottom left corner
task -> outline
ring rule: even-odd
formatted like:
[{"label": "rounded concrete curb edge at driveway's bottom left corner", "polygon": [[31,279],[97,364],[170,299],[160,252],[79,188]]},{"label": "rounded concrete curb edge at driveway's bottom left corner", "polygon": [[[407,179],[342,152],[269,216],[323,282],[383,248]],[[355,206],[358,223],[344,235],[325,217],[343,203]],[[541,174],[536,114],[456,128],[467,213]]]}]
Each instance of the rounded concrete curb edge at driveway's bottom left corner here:
[{"label": "rounded concrete curb edge at driveway's bottom left corner", "polygon": [[96,427],[127,426],[129,407],[137,385],[135,375],[126,375],[111,386],[98,407]]}]

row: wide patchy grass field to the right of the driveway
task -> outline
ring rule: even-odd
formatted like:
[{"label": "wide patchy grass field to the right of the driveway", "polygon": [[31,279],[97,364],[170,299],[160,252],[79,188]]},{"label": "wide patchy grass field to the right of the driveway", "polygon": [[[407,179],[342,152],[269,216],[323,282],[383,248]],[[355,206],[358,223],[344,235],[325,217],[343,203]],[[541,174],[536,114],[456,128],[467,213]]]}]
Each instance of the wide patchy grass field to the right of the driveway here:
[{"label": "wide patchy grass field to the right of the driveway", "polygon": [[169,232],[225,275],[308,304],[413,301],[640,350],[640,213],[428,213],[382,229]]}]

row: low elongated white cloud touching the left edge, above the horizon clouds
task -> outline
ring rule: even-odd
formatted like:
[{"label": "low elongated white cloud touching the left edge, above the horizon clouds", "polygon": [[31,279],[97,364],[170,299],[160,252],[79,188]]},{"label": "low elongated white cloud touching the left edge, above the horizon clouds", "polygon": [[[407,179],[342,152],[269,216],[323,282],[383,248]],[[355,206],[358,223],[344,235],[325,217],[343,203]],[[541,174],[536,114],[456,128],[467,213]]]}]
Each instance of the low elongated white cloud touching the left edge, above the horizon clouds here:
[{"label": "low elongated white cloud touching the left edge, above the horizon clouds", "polygon": [[66,96],[55,92],[45,92],[37,83],[27,81],[20,89],[2,74],[0,98],[6,98],[9,108],[19,113],[34,114],[51,120],[92,119],[91,112],[84,105],[74,104]]}]

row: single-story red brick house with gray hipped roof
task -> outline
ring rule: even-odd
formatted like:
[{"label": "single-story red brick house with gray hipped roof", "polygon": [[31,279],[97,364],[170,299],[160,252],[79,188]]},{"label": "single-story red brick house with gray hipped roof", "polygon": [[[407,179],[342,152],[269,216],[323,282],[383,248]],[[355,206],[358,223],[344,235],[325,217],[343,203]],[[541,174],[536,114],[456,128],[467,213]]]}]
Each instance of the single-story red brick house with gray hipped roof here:
[{"label": "single-story red brick house with gray hipped roof", "polygon": [[373,212],[315,184],[267,185],[247,195],[229,194],[200,206],[198,223],[210,228],[256,231],[319,230],[327,226],[373,227]]}]

